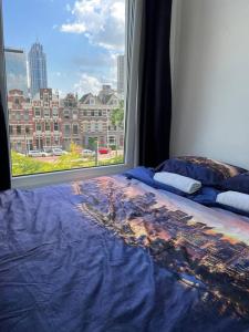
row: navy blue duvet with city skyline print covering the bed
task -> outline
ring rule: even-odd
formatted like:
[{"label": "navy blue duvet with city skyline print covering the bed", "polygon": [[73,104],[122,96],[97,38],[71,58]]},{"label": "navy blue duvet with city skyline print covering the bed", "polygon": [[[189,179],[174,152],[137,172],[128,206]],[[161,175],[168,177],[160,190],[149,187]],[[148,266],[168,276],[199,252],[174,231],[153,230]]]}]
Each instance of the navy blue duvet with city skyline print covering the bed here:
[{"label": "navy blue duvet with city skyline print covering the bed", "polygon": [[0,331],[249,331],[249,219],[123,176],[0,194]]}]

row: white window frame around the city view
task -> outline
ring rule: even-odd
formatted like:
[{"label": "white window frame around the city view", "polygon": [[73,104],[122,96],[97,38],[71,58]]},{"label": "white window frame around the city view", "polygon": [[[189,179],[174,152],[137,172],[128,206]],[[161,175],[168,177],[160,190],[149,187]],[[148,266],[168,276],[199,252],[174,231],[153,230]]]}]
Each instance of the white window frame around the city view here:
[{"label": "white window frame around the city view", "polygon": [[[135,14],[134,14],[135,12]],[[128,15],[129,13],[129,15]],[[132,14],[131,14],[132,13]],[[139,40],[142,30],[143,0],[126,0],[126,83],[125,84],[125,149],[124,164],[112,166],[100,166],[91,168],[69,169],[56,173],[44,173],[35,175],[23,175],[12,177],[13,188],[31,188],[44,185],[60,184],[72,180],[82,180],[96,176],[123,173],[136,166],[136,124],[137,124],[137,77],[139,68]],[[3,37],[2,3],[0,2],[0,33]],[[133,38],[131,38],[133,37]],[[0,40],[3,40],[0,39]],[[3,50],[3,43],[0,44]],[[2,56],[3,56],[2,52]],[[132,55],[133,54],[133,55]],[[4,62],[4,60],[3,60]],[[6,69],[0,69],[0,74],[6,77]],[[6,85],[6,84],[4,84]],[[1,86],[2,95],[7,96],[6,86]],[[8,105],[3,103],[8,116]],[[64,114],[63,114],[64,115]],[[104,114],[103,114],[104,115]],[[10,137],[8,137],[10,141]]]}]

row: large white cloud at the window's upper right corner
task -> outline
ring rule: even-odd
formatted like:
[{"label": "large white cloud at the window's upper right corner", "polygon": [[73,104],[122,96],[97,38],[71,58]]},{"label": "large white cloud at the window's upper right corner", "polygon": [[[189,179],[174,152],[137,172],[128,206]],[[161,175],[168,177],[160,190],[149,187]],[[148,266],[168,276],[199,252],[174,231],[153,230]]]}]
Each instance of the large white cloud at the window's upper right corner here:
[{"label": "large white cloud at the window's upper right corner", "polygon": [[72,18],[62,32],[84,33],[93,44],[124,51],[125,0],[77,0],[68,9]]}]

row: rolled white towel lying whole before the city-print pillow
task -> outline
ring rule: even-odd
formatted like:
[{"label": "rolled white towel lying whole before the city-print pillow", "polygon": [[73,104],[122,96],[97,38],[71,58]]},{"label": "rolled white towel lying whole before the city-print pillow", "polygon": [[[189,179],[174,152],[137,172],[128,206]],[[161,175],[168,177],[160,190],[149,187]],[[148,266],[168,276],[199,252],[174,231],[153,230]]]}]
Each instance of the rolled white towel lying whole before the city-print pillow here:
[{"label": "rolled white towel lying whole before the city-print pillow", "polygon": [[194,194],[201,187],[201,183],[194,178],[168,172],[155,173],[154,180],[187,194]]}]

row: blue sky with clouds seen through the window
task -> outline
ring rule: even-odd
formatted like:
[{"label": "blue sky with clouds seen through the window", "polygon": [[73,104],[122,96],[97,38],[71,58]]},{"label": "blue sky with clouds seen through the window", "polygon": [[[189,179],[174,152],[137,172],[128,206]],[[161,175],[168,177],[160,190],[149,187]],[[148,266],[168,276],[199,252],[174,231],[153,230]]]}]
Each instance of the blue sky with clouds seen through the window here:
[{"label": "blue sky with clouds seen through the window", "polygon": [[124,54],[125,0],[3,0],[6,46],[27,53],[39,41],[49,87],[61,94],[116,87],[116,58]]}]

